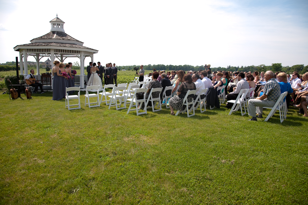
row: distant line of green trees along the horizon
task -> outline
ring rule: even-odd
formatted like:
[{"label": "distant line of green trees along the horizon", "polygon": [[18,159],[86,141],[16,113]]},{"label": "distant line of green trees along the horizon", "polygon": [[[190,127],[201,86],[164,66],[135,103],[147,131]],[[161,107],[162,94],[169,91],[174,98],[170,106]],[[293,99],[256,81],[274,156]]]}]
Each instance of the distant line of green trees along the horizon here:
[{"label": "distant line of green trees along the horizon", "polygon": [[[10,71],[10,70],[16,70],[16,62],[15,61],[8,61],[6,63],[2,63],[0,65],[0,71]],[[28,66],[29,68],[30,66]],[[36,68],[36,66],[34,66]],[[125,69],[125,70],[133,70],[134,67],[137,67],[139,70],[140,65],[123,65],[123,66],[117,66],[119,70]],[[87,66],[84,67],[85,69],[87,69]],[[144,65],[144,70],[153,70],[156,69],[157,71],[159,70],[184,70],[184,71],[195,71],[195,70],[204,70],[204,65],[200,65],[200,66],[193,66],[193,65],[164,65],[164,64],[157,64],[157,65]],[[78,63],[78,61],[76,61],[75,63],[73,63],[73,67],[72,69],[80,69],[80,65]],[[304,74],[308,71],[308,65],[304,66],[304,64],[301,65],[293,65],[293,66],[282,66],[281,63],[273,63],[272,65],[250,65],[250,66],[231,66],[228,65],[226,68],[225,67],[214,67],[211,68],[212,71],[243,71],[243,72],[254,72],[254,71],[258,71],[258,72],[265,72],[267,70],[271,70],[273,72],[277,72],[277,71],[283,71],[285,73],[293,73],[294,71],[298,72],[299,74]]]}]

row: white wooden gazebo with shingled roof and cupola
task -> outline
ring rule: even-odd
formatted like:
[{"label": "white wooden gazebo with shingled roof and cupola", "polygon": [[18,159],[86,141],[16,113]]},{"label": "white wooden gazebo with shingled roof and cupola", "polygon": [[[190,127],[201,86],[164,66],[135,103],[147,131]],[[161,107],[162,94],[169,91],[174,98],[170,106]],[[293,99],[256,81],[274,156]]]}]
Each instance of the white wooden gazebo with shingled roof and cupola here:
[{"label": "white wooden gazebo with shingled roof and cupola", "polygon": [[[51,30],[48,34],[32,39],[31,43],[14,47],[15,51],[19,51],[20,74],[25,77],[28,75],[28,56],[33,56],[36,60],[36,72],[39,79],[41,58],[50,57],[51,62],[58,58],[60,62],[63,62],[67,57],[78,57],[80,59],[80,88],[84,88],[84,59],[91,57],[93,62],[93,54],[98,53],[98,50],[85,47],[83,42],[67,35],[63,28],[64,23],[57,14],[57,17],[50,21]],[[22,62],[24,62],[24,69]]]}]

